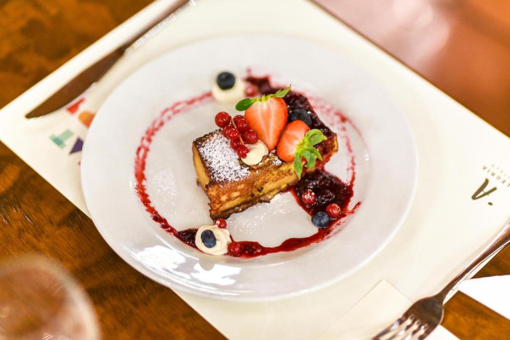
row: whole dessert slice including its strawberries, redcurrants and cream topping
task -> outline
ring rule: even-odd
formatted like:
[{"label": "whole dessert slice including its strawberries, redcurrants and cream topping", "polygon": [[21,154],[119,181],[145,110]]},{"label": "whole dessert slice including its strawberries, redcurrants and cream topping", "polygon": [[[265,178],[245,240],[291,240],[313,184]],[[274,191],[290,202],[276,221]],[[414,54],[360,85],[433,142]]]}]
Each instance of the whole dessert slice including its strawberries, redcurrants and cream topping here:
[{"label": "whole dessert slice including its strawberries, redcurrants and cream topping", "polygon": [[[279,94],[283,99],[277,97],[281,91],[249,99],[245,117],[218,113],[215,121],[222,128],[193,141],[197,182],[209,197],[213,220],[269,201],[296,184],[303,164],[305,171],[314,171],[316,158],[327,161],[337,151],[336,134],[320,121],[306,97],[289,90]],[[286,99],[295,101],[296,96],[310,110],[288,115]],[[294,155],[299,161],[294,162]]]}]

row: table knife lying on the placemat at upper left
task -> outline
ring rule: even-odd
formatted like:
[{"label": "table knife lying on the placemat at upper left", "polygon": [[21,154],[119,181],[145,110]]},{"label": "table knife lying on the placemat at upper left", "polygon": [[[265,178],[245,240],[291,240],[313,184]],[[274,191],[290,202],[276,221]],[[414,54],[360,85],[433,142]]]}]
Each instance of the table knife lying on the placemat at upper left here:
[{"label": "table knife lying on the placemat at upper left", "polygon": [[181,0],[174,3],[154,20],[145,25],[138,33],[125,41],[121,46],[110,52],[105,57],[90,65],[80,74],[71,79],[66,85],[58,89],[54,94],[39,104],[34,110],[25,115],[26,118],[42,117],[64,107],[66,104],[85,92],[119,60],[123,55],[129,54],[135,48],[140,47],[147,39],[158,33],[169,21],[174,19],[174,13],[184,5],[193,5],[193,0]]}]

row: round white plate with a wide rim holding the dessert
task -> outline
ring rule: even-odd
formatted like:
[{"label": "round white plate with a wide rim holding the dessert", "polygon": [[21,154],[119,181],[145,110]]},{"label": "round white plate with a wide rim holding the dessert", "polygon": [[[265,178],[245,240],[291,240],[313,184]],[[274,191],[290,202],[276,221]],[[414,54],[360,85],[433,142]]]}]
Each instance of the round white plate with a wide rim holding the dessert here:
[{"label": "round white plate with a wide rim holding the dessert", "polygon": [[[262,48],[263,47],[263,48]],[[134,159],[151,121],[172,103],[210,89],[231,70],[273,75],[278,83],[321,97],[339,108],[356,162],[352,204],[359,209],[333,237],[293,252],[256,258],[200,253],[162,230],[134,190]],[[208,199],[196,185],[191,142],[215,128],[209,102],[175,116],[154,137],[147,158],[153,205],[178,229],[211,223]],[[320,115],[320,113],[319,113]],[[322,117],[325,120],[327,118]],[[326,169],[349,179],[344,139]],[[369,75],[342,56],[309,42],[275,36],[235,36],[186,45],[138,69],[99,110],[83,150],[82,185],[92,219],[108,244],[144,275],[174,289],[216,298],[260,301],[290,297],[334,283],[367,263],[394,236],[411,206],[417,159],[409,125]],[[351,204],[351,205],[352,205]],[[277,195],[228,219],[236,240],[276,246],[315,233],[290,194]]]}]

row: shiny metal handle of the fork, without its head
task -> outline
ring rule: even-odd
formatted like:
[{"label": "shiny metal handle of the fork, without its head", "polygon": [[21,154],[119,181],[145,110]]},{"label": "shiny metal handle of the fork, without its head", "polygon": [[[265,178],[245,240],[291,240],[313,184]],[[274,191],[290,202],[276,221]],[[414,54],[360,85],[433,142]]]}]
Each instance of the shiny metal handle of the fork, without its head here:
[{"label": "shiny metal handle of the fork, without its head", "polygon": [[444,289],[438,293],[443,301],[448,300],[457,291],[460,284],[470,277],[470,275],[489,257],[497,254],[505,246],[510,244],[510,220],[508,220],[496,237],[483,248],[469,264],[466,265],[462,273],[455,276]]}]

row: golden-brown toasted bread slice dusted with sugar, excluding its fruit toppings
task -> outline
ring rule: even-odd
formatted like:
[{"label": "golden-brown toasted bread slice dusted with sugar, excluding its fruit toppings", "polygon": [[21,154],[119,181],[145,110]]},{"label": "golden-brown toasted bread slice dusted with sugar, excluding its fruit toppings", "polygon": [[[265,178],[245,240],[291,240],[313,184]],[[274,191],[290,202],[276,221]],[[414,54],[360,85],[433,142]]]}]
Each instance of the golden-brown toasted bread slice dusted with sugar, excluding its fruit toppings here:
[{"label": "golden-brown toasted bread slice dusted with sugar, excluding its fruit toppings", "polygon": [[[274,150],[257,165],[244,164],[221,129],[195,139],[192,150],[197,182],[209,197],[213,220],[268,202],[298,181],[293,163],[279,159]],[[336,134],[331,133],[318,150],[323,160],[329,159],[338,150]]]}]

